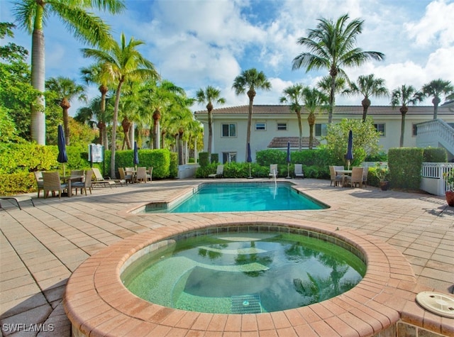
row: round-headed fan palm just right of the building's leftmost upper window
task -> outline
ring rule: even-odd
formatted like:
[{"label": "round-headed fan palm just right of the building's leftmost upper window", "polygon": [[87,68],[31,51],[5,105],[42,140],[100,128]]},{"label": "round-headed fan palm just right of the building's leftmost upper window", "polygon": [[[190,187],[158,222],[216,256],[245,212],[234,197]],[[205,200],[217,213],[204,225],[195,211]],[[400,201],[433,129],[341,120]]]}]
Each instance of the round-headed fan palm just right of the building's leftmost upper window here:
[{"label": "round-headed fan palm just right of the building's leftmost upper window", "polygon": [[237,95],[244,94],[246,89],[249,97],[248,107],[248,133],[246,136],[246,160],[248,160],[248,143],[250,143],[250,124],[253,121],[253,104],[255,97],[255,89],[270,90],[271,83],[263,72],[258,72],[255,68],[244,70],[240,75],[233,80],[232,88],[235,89]]}]

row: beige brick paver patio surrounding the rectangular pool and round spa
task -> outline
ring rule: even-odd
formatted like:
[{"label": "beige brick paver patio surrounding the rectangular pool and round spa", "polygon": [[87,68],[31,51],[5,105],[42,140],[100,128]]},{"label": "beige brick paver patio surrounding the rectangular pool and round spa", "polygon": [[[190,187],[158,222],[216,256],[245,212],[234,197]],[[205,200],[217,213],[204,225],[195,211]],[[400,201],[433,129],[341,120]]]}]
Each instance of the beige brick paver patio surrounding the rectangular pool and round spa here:
[{"label": "beige brick paver patio surrounding the rectangular pool and round spa", "polygon": [[[149,201],[174,199],[199,184],[200,179],[96,188],[87,197],[77,195],[60,200],[36,199],[33,194],[36,207],[23,204],[22,211],[3,201],[4,209],[0,210],[3,335],[70,336],[70,321],[63,310],[62,297],[72,272],[89,256],[112,243],[184,221],[255,216],[267,221],[304,220],[355,228],[380,238],[404,254],[421,289],[453,293],[454,208],[447,206],[444,198],[382,192],[375,187],[330,187],[325,180],[291,181],[306,194],[329,204],[331,209],[231,214],[127,212]],[[38,328],[41,330],[36,331]]]}]

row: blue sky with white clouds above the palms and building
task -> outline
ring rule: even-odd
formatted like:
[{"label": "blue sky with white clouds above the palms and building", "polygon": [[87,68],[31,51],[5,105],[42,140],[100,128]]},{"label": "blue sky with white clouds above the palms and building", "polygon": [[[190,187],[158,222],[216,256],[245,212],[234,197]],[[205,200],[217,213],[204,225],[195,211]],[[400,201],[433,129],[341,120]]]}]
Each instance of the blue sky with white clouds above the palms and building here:
[{"label": "blue sky with white clouds above the palms and building", "polygon": [[[328,70],[292,70],[292,60],[306,52],[297,44],[319,18],[348,13],[364,21],[357,46],[384,53],[384,61],[344,68],[351,80],[375,74],[389,91],[402,84],[421,89],[433,79],[454,83],[454,0],[126,0],[116,16],[99,13],[114,38],[142,40],[140,53],[153,62],[163,79],[182,87],[189,97],[211,85],[221,90],[223,106],[248,104],[232,84],[242,71],[256,68],[272,84],[258,90],[254,104],[279,104],[282,91],[295,83],[316,86]],[[0,21],[13,22],[13,3],[0,0]],[[14,30],[14,43],[31,50],[31,35]],[[82,57],[79,43],[55,16],[44,28],[45,75],[70,77],[82,84],[80,68],[94,63]],[[3,40],[1,43],[11,42]],[[99,94],[95,86],[88,96]],[[336,96],[337,105],[360,105],[360,96]],[[372,98],[372,105],[389,105],[389,98]],[[444,101],[444,97],[442,102]],[[74,116],[80,103],[72,101]],[[431,99],[423,101],[431,105]],[[221,107],[216,106],[215,108]],[[193,111],[206,109],[194,104]]]}]

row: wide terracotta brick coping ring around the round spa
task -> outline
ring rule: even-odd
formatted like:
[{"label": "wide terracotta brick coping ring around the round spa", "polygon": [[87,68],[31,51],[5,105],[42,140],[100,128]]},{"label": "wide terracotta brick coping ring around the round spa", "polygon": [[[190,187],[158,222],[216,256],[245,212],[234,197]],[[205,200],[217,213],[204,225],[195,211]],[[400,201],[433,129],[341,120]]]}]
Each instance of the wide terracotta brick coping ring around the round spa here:
[{"label": "wide terracotta brick coping ring around the round spa", "polygon": [[[365,254],[363,280],[344,294],[297,309],[265,314],[206,314],[171,309],[146,302],[128,291],[120,280],[122,265],[134,253],[186,231],[213,226],[292,226],[328,233],[354,244]],[[101,250],[75,270],[67,282],[65,311],[79,336],[182,336],[187,333],[247,333],[260,336],[372,336],[399,319],[433,326],[451,336],[452,319],[423,311],[415,302],[422,291],[411,266],[391,245],[351,228],[285,219],[267,221],[221,219],[187,221],[140,233]]]}]

